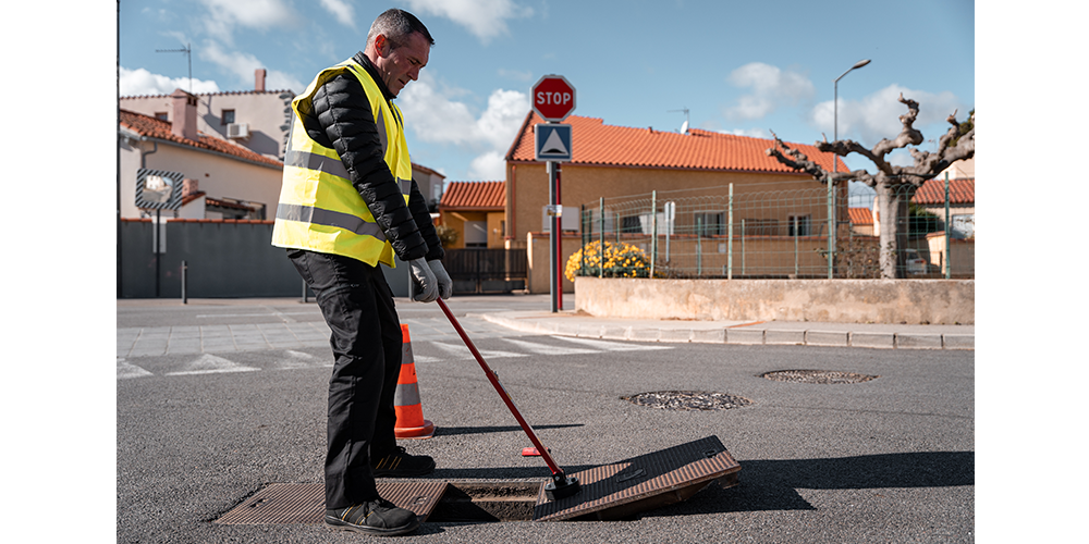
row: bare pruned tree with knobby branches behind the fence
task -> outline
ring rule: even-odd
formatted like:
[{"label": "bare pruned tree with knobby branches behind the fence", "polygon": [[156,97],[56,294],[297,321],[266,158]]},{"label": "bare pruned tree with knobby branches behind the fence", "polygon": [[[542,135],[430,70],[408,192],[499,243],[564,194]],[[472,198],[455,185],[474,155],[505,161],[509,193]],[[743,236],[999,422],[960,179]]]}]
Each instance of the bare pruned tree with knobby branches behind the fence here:
[{"label": "bare pruned tree with knobby branches behind the fence", "polygon": [[[915,164],[911,166],[895,166],[890,164],[885,157],[901,148],[918,146],[922,144],[922,133],[913,125],[919,115],[919,103],[911,99],[904,98],[901,94],[900,101],[907,106],[907,113],[900,116],[903,124],[900,135],[895,139],[882,139],[873,149],[866,149],[857,141],[841,139],[832,143],[818,141],[813,144],[818,150],[833,152],[839,157],[846,157],[849,153],[858,153],[869,159],[877,166],[877,173],[871,174],[866,170],[855,170],[852,172],[829,172],[821,165],[810,161],[797,149],[792,149],[783,140],[775,136],[775,147],[766,152],[779,160],[779,162],[804,171],[821,183],[843,184],[848,181],[862,182],[873,187],[877,191],[878,211],[880,213],[880,268],[881,277],[893,279],[903,276],[904,252],[898,249],[907,246],[907,217],[908,203],[915,191],[922,186],[927,180],[932,180],[939,172],[945,170],[950,164],[970,159],[976,153],[976,127],[964,126],[956,121],[956,111],[946,119],[953,126],[938,140],[938,150],[934,152],[921,151],[916,147],[910,148]],[[971,118],[969,118],[971,119]],[[966,124],[968,125],[968,124]],[[955,141],[955,145],[951,143]]]}]

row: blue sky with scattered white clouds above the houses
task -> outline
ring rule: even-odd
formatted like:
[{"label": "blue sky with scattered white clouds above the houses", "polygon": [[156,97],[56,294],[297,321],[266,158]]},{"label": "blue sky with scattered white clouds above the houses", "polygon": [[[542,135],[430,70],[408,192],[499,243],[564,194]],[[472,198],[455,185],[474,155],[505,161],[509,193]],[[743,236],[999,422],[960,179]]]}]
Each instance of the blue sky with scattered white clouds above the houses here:
[{"label": "blue sky with scattered white clouds above the houses", "polygon": [[[120,8],[122,96],[189,88],[301,92],[320,70],[362,51],[388,8],[418,16],[436,40],[396,99],[413,162],[446,181],[504,177],[503,157],[530,110],[530,89],[560,74],[573,114],[619,126],[708,131],[872,147],[900,132],[903,94],[933,150],[975,108],[970,0],[131,0]],[[870,64],[833,82],[857,61]],[[837,128],[835,131],[834,128]],[[577,146],[577,134],[573,135]],[[929,146],[929,147],[928,147]],[[910,156],[893,156],[910,164]],[[851,169],[872,164],[849,156]]]}]

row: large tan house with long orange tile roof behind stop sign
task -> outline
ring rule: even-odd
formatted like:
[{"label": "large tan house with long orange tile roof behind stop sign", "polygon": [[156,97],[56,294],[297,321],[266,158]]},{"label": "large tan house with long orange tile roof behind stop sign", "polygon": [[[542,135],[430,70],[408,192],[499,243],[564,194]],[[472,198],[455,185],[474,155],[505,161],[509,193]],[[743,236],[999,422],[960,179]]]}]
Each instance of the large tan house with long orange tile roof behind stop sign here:
[{"label": "large tan house with long orange tile roof behind stop sign", "polygon": [[[529,249],[531,293],[549,292],[549,248],[547,243],[539,243],[548,236],[548,173],[546,163],[534,158],[534,126],[541,122],[535,113],[527,114],[505,156],[504,220],[509,227],[504,245],[507,248]],[[696,128],[681,134],[656,131],[653,127],[614,126],[605,124],[602,119],[578,115],[568,116],[564,123],[572,126],[572,160],[561,163],[559,184],[559,203],[563,207],[562,228],[572,233],[565,235],[561,244],[561,258],[564,260],[582,244],[577,234],[580,226],[579,206],[598,202],[599,198],[649,195],[653,190],[721,190],[730,184],[736,186],[739,195],[824,187],[809,174],[795,172],[769,157],[766,150],[775,147],[772,139]],[[832,153],[820,152],[808,145],[791,146],[832,170]],[[847,170],[842,160],[839,169]],[[846,202],[846,188],[837,190],[843,190],[840,201]],[[567,212],[570,209],[574,209],[575,213]],[[846,207],[842,213],[846,214]],[[813,206],[793,211],[784,208],[776,210],[775,217],[750,218],[749,225],[760,225],[759,228],[770,231],[771,227],[763,225],[775,224],[786,234],[788,225],[799,215],[809,224],[821,221],[822,214],[827,214],[827,207]],[[697,223],[702,227],[722,225],[721,210],[699,211],[690,215],[677,217],[677,226],[690,227]],[[637,215],[612,220],[622,222],[622,227],[628,223],[637,225],[641,221]],[[542,262],[546,264],[540,265]],[[570,282],[564,282],[565,290],[574,288]]]}]

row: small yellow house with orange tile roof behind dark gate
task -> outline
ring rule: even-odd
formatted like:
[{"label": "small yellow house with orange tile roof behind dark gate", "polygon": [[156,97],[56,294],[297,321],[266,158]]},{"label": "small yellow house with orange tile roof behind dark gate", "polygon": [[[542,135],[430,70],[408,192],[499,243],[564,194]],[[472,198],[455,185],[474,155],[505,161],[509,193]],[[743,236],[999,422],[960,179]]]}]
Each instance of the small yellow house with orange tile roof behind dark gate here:
[{"label": "small yellow house with orange tile roof behind dark gate", "polygon": [[450,249],[504,247],[506,188],[504,182],[451,182],[439,202],[439,222],[457,232]]}]

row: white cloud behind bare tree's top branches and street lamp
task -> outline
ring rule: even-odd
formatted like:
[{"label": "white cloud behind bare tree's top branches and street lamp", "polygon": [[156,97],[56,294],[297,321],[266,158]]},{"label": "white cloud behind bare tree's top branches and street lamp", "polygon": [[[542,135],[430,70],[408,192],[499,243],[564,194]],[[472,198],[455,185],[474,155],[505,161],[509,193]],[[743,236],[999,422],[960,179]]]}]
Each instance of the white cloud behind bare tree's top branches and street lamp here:
[{"label": "white cloud behind bare tree's top branches and street lamp", "polygon": [[[840,99],[839,135],[841,138],[854,138],[866,147],[872,147],[882,138],[894,138],[903,125],[900,116],[907,113],[907,107],[900,102],[900,95],[919,102],[919,116],[915,127],[922,131],[927,139],[937,139],[944,134],[949,125],[944,125],[953,110],[959,109],[957,115],[967,116],[967,111],[960,100],[950,91],[939,94],[923,90],[911,90],[900,85],[890,85],[862,100]],[[809,123],[822,131],[831,140],[835,125],[832,101],[828,100],[813,107],[809,114]],[[940,132],[933,132],[940,131]],[[920,146],[922,149],[928,144]]]}]

